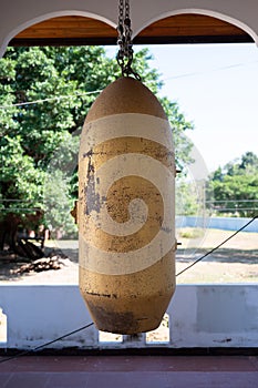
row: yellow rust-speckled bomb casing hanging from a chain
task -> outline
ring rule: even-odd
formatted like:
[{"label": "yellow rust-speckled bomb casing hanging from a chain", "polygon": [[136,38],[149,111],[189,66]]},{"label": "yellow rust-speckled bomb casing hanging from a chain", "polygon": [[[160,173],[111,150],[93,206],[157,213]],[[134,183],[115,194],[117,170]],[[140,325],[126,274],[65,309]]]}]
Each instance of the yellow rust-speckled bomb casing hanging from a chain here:
[{"label": "yellow rust-speckled bomb casing hanging from a chain", "polygon": [[90,109],[79,155],[80,290],[100,330],[149,331],[175,290],[172,131],[154,94],[121,78]]}]

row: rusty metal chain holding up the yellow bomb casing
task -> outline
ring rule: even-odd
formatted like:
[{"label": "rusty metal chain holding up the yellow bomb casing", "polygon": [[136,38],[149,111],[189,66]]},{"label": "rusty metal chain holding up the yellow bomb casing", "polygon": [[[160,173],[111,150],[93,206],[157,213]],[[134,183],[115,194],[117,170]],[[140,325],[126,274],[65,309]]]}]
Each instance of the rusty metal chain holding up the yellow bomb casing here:
[{"label": "rusty metal chain holding up the yellow bomb casing", "polygon": [[132,69],[133,63],[133,42],[132,42],[132,29],[130,19],[130,2],[128,0],[118,1],[118,25],[117,25],[117,45],[120,50],[116,55],[117,63],[122,70],[123,76],[135,76],[141,81],[141,76]]}]

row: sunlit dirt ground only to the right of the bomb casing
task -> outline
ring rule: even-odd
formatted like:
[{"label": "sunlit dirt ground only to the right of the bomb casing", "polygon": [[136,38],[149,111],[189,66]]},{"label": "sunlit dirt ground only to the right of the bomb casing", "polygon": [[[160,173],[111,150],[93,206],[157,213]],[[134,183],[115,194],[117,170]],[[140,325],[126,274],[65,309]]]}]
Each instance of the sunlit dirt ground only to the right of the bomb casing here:
[{"label": "sunlit dirt ground only to the right of the bomb casing", "polygon": [[[206,229],[199,237],[180,238],[176,255],[179,274],[196,259],[214,249],[234,232]],[[177,276],[177,284],[257,283],[258,233],[240,232],[225,245]]]}]

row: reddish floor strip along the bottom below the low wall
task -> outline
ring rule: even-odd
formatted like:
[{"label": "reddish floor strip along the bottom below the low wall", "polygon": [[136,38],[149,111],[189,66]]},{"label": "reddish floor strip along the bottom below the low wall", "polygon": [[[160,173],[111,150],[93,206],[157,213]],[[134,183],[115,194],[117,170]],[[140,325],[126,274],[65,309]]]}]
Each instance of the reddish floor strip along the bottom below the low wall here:
[{"label": "reddish floor strip along the bottom below the low wall", "polygon": [[34,355],[0,364],[0,387],[258,388],[258,356]]}]

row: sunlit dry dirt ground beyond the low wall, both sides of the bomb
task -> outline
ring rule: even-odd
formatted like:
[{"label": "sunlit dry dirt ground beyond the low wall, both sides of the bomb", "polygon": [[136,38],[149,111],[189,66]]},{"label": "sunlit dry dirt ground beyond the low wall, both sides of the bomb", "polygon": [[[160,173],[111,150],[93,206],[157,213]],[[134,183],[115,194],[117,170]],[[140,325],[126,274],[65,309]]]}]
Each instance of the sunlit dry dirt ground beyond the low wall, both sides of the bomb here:
[{"label": "sunlit dry dirt ground beyond the low wall, both sides of the bomb", "polygon": [[[180,273],[194,261],[219,245],[234,232],[184,228],[177,231],[176,273]],[[24,263],[0,261],[0,285],[3,284],[78,284],[78,242],[51,241],[47,249],[56,249],[68,256],[62,259],[62,268],[41,273],[13,274]],[[221,248],[177,276],[177,284],[198,283],[257,283],[258,282],[258,233],[241,232]]]}]

